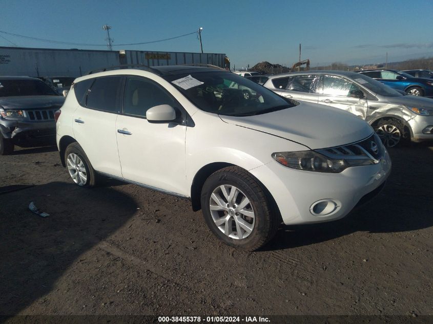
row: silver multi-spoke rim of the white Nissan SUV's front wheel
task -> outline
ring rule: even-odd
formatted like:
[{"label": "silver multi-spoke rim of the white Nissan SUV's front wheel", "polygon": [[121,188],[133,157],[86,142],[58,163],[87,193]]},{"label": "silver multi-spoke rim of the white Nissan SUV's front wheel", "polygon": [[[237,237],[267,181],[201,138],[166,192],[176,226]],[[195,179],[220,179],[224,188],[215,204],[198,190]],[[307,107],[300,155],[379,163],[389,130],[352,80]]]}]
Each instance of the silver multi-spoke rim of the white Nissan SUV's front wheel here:
[{"label": "silver multi-spoke rim of the white Nissan SUV's front wheel", "polygon": [[242,240],[253,232],[253,206],[248,197],[235,186],[221,185],[215,188],[209,208],[215,225],[224,235]]}]

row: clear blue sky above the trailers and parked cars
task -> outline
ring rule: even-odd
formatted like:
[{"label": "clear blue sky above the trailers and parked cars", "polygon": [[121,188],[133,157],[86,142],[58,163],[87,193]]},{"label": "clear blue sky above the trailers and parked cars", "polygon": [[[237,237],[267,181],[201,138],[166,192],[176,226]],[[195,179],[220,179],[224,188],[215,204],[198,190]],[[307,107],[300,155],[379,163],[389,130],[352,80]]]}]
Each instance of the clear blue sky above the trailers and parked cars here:
[{"label": "clear blue sky above the trailers and parked cars", "polygon": [[[433,56],[432,0],[0,0],[0,46],[224,53],[232,68],[261,61],[312,67]],[[2,32],[7,32],[5,34]],[[128,45],[188,36],[146,45]],[[36,41],[10,34],[88,45]],[[120,46],[118,46],[120,45]]]}]

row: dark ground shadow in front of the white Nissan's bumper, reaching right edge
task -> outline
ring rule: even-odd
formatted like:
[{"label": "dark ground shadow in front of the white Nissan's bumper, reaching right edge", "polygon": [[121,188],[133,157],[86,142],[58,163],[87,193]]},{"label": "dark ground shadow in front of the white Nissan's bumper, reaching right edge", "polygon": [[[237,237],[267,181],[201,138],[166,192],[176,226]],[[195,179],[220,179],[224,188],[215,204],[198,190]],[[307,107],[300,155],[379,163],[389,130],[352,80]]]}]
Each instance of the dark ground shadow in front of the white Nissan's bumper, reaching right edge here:
[{"label": "dark ground shadow in front of the white Nissan's bumper, reaching right edge", "polygon": [[391,175],[382,192],[335,222],[282,226],[262,251],[290,249],[320,243],[357,231],[392,233],[433,226],[433,147],[415,143],[390,148]]}]

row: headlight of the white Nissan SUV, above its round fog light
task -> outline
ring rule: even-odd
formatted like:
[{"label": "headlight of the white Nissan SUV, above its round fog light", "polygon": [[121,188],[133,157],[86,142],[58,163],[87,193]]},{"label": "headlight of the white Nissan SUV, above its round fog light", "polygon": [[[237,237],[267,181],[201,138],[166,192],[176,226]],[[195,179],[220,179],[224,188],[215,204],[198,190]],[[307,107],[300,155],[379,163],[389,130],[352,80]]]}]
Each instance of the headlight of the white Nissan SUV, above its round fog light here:
[{"label": "headlight of the white Nissan SUV, above its round fog light", "polygon": [[272,157],[278,163],[292,169],[338,173],[350,166],[371,165],[370,159],[331,159],[313,150],[276,152]]}]

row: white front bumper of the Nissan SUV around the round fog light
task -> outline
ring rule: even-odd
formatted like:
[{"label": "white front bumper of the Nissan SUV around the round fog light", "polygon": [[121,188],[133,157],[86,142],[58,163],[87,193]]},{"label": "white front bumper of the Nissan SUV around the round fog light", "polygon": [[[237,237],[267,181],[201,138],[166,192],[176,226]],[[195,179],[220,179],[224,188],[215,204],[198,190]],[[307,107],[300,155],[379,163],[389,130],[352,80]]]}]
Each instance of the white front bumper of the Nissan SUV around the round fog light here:
[{"label": "white front bumper of the Nissan SUV around the round fog light", "polygon": [[[284,224],[290,225],[343,218],[358,203],[379,193],[390,170],[386,152],[378,164],[349,167],[339,174],[295,170],[274,161],[250,172],[271,192]],[[323,201],[334,202],[335,210],[314,214],[317,210],[313,207]]]}]

